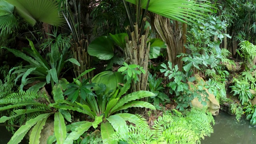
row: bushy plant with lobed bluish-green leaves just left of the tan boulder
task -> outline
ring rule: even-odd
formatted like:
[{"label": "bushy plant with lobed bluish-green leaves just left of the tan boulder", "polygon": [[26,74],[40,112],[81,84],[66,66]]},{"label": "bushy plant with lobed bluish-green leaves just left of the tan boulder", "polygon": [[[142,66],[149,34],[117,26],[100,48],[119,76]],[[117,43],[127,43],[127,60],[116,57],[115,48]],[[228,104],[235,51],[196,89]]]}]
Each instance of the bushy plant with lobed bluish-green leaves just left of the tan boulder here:
[{"label": "bushy plant with lobed bluish-green leaves just left of the tan boulder", "polygon": [[[176,65],[172,68],[172,63],[168,62],[168,67],[166,64],[161,64],[164,69],[160,69],[160,72],[164,72],[164,76],[167,76],[169,82],[166,86],[170,88],[170,94],[175,94],[175,102],[177,103],[177,109],[184,110],[188,106],[192,106],[191,101],[194,98],[198,98],[198,100],[203,104],[206,105],[206,102],[203,101],[201,94],[206,95],[204,97],[208,100],[206,90],[202,84],[198,84],[197,86],[193,85],[192,82],[196,80],[195,77],[192,77],[192,72],[183,72],[178,71],[178,66]],[[186,68],[184,67],[184,70]],[[186,70],[185,70],[186,71]],[[190,84],[188,84],[190,82]]]}]

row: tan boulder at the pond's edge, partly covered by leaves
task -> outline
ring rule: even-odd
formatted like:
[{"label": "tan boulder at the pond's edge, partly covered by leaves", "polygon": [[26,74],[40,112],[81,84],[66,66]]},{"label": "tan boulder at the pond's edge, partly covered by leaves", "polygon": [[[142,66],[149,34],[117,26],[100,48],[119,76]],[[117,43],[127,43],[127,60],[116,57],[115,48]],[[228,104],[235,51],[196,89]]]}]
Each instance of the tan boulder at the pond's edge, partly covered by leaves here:
[{"label": "tan boulder at the pond's edge, partly covered by leaves", "polygon": [[[196,82],[198,84],[204,84],[204,80],[199,76],[199,75],[195,75],[196,77]],[[219,114],[219,110],[220,110],[220,104],[219,102],[216,100],[215,96],[213,94],[211,94],[210,92],[208,92],[208,89],[204,89],[206,90],[209,100],[205,100],[205,95],[201,94],[202,96],[202,100],[206,102],[206,106],[208,108],[208,110],[212,113],[213,116],[216,116]],[[194,98],[194,100],[191,101],[192,106],[197,107],[197,108],[203,108],[204,106],[201,104],[201,102],[199,102],[198,98]]]}]

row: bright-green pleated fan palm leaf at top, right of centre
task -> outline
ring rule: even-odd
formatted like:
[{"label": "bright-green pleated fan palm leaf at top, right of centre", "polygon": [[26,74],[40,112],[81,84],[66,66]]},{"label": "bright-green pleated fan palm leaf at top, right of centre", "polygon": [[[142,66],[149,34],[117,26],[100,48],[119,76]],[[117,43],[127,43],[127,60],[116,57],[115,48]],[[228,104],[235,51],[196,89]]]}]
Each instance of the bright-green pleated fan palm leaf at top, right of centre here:
[{"label": "bright-green pleated fan palm leaf at top, right of centre", "polygon": [[[138,0],[125,0],[132,4],[137,4]],[[141,8],[146,8],[148,0],[141,0]],[[204,0],[201,0],[204,1]],[[148,11],[159,14],[166,18],[187,23],[185,20],[194,22],[202,19],[202,12],[211,12],[207,9],[210,6],[194,0],[150,0],[148,4]]]}]

